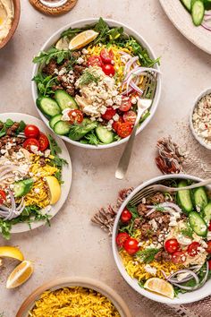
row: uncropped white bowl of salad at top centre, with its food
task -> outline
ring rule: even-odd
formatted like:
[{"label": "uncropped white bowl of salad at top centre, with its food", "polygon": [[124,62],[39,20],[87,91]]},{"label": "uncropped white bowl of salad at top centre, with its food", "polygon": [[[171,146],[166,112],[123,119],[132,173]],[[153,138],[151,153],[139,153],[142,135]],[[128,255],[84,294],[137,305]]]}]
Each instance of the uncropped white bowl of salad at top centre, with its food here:
[{"label": "uncropped white bowl of salad at top centre, with its food", "polygon": [[32,94],[38,113],[64,141],[89,149],[127,141],[139,97],[147,87],[146,71],[157,73],[156,93],[137,133],[156,113],[161,91],[159,58],[122,23],[100,18],[64,26],[46,41],[33,62]]}]

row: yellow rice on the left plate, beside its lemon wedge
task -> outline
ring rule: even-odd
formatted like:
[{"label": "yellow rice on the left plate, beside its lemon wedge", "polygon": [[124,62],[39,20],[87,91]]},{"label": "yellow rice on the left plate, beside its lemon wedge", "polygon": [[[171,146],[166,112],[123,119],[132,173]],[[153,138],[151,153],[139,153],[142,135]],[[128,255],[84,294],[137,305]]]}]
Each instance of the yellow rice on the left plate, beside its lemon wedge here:
[{"label": "yellow rice on the left plate, beside its lemon wedge", "polygon": [[[53,176],[55,172],[58,171],[58,168],[51,167],[48,164],[41,167],[39,164],[40,157],[38,155],[32,155],[31,159],[30,173],[33,175],[34,184],[30,193],[27,193],[24,197],[25,205],[37,205],[40,208],[45,208],[50,203],[45,177]],[[49,161],[49,159],[46,159],[46,162],[47,161]]]}]

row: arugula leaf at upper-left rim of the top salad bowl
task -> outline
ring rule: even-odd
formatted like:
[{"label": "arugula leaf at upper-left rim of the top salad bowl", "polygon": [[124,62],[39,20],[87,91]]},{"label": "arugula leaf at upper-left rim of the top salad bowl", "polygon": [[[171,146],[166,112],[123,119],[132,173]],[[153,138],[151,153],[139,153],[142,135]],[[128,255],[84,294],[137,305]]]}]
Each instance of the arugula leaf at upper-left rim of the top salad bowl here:
[{"label": "arugula leaf at upper-left rim of the top salad bowl", "polygon": [[71,51],[59,50],[55,47],[51,47],[46,52],[40,52],[38,56],[35,56],[33,58],[33,63],[49,64],[50,60],[55,58],[57,64],[60,64],[64,59],[69,58],[71,55]]}]

